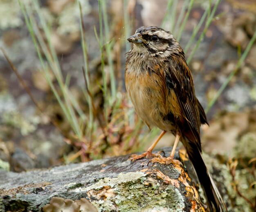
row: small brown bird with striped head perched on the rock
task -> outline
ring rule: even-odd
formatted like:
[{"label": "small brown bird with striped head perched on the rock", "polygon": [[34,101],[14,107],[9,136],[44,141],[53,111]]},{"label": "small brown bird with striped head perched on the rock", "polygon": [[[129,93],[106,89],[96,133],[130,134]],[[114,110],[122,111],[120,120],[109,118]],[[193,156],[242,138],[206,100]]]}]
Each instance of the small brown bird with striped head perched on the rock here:
[{"label": "small brown bird with striped head perched on the rock", "polygon": [[[208,124],[204,109],[195,97],[194,82],[184,51],[173,34],[160,27],[139,27],[127,39],[133,44],[126,53],[125,85],[137,115],[149,129],[162,130],[159,137],[135,161],[179,163],[174,153],[182,142],[209,203],[209,209],[227,211],[226,205],[202,159],[200,126]],[[209,124],[208,124],[209,125]],[[152,150],[166,132],[175,135],[171,155],[162,157]]]}]

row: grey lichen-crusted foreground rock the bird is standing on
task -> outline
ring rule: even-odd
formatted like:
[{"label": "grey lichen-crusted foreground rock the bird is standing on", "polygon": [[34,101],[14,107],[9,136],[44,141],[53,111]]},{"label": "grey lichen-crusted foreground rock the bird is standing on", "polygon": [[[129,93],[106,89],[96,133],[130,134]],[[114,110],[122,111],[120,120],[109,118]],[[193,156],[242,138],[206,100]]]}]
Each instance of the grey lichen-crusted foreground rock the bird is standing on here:
[{"label": "grey lichen-crusted foreground rock the bird is standing on", "polygon": [[[182,150],[180,157],[188,162]],[[122,156],[49,170],[0,170],[0,181],[0,210],[5,211],[47,212],[54,205],[63,211],[205,211],[183,166],[149,159],[131,163]]]}]

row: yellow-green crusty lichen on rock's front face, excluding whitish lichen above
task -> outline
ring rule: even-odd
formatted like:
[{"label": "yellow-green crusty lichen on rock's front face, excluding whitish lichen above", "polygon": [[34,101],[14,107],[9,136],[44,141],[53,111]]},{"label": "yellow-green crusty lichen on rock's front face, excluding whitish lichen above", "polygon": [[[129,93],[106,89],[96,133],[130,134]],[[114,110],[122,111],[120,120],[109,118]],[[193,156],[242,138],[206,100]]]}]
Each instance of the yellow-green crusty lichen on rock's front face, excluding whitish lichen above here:
[{"label": "yellow-green crusty lichen on rock's front face, excluding whitish lichen above", "polygon": [[[183,211],[184,202],[180,192],[172,185],[166,185],[164,190],[143,183],[131,185],[124,183],[116,189],[115,203],[120,211]],[[157,195],[156,195],[157,194]]]}]

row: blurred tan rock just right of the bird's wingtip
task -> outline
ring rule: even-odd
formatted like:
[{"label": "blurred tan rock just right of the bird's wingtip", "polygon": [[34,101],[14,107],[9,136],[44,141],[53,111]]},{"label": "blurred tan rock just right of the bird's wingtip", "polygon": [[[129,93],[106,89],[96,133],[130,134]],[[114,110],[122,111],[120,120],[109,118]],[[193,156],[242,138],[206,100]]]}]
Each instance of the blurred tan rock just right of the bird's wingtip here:
[{"label": "blurred tan rock just right of the bird's wingtip", "polygon": [[[210,121],[210,127],[202,133],[203,150],[205,152],[214,150],[229,157],[238,157],[234,149],[243,145],[241,137],[247,133],[255,133],[256,117],[254,114],[256,114],[255,108],[216,116]],[[249,143],[243,148],[250,148]],[[253,146],[252,148],[254,149]]]}]

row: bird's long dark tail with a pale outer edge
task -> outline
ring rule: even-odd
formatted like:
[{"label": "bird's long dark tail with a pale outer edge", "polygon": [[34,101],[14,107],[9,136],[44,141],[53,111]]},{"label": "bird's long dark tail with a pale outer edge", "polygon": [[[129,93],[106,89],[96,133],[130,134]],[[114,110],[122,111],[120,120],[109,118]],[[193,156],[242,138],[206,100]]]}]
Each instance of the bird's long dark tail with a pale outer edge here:
[{"label": "bird's long dark tail with a pale outer edge", "polygon": [[189,141],[187,138],[183,139],[186,140],[182,143],[186,148],[186,152],[189,155],[189,159],[193,164],[195,172],[198,176],[198,180],[204,190],[204,194],[209,203],[209,208],[211,212],[214,212],[213,208],[215,208],[216,212],[227,212],[226,205],[211,177],[211,173],[205,166],[198,146],[194,142]]}]

